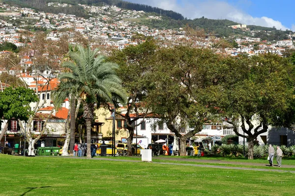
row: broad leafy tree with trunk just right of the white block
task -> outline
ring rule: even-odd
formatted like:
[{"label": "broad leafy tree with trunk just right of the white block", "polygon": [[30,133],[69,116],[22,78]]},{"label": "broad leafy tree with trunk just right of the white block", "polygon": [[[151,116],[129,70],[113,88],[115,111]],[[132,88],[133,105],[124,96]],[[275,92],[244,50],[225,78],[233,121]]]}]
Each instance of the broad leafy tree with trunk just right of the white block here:
[{"label": "broad leafy tree with trunk just right of the white block", "polygon": [[185,155],[186,139],[203,124],[218,116],[222,57],[210,49],[177,46],[160,49],[151,79],[152,111],[180,138],[180,155]]}]

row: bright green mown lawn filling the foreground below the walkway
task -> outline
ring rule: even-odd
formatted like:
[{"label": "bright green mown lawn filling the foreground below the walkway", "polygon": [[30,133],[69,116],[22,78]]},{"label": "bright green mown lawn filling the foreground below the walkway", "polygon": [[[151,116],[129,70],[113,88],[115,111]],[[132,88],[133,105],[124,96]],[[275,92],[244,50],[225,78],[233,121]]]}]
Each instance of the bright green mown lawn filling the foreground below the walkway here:
[{"label": "bright green mown lawn filling the foreground below the walkway", "polygon": [[3,154],[0,165],[0,196],[293,196],[295,192],[291,172]]}]

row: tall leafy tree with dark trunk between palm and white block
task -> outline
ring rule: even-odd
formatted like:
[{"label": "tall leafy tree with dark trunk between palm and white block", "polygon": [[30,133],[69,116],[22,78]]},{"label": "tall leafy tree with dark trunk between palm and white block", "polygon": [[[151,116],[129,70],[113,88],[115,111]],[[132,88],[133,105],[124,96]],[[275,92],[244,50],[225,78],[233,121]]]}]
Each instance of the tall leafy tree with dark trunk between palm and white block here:
[{"label": "tall leafy tree with dark trunk between palm and white block", "polygon": [[[122,80],[122,85],[127,91],[127,108],[126,113],[120,115],[126,121],[126,129],[129,132],[127,138],[128,156],[132,156],[132,146],[134,128],[142,123],[150,112],[147,105],[149,91],[153,88],[150,85],[148,75],[153,71],[154,55],[157,49],[156,42],[150,38],[146,38],[146,42],[137,45],[129,46],[122,51],[113,51],[109,57],[112,61],[118,63],[118,75]],[[131,119],[131,114],[136,113],[136,117]],[[135,124],[139,118],[143,120]]]}]

